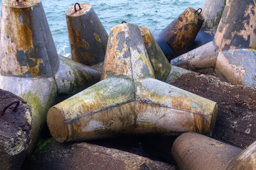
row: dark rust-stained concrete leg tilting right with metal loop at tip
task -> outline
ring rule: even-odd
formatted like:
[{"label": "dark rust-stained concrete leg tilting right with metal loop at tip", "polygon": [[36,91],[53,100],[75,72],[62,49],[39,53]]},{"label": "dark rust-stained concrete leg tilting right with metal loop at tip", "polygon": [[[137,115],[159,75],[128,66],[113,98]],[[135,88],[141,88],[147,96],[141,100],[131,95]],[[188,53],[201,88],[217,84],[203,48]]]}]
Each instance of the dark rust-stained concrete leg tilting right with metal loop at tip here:
[{"label": "dark rust-stained concrete leg tilting right with metal loop at tip", "polygon": [[196,12],[194,8],[187,8],[159,33],[159,38],[166,42],[174,52],[175,56],[171,56],[170,59],[187,52],[201,29],[203,21],[200,10]]}]

